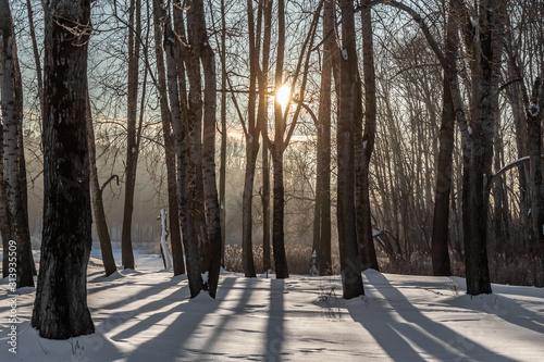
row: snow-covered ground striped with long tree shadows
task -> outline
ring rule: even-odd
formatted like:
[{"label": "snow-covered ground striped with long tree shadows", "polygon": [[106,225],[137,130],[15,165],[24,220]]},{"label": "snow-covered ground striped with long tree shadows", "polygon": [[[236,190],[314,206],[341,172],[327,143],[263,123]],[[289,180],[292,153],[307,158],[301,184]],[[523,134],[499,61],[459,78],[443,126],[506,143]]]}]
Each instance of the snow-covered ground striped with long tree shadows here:
[{"label": "snow-covered ground striped with long tree shadows", "polygon": [[[94,254],[96,255],[96,254]],[[119,258],[118,258],[119,260]],[[341,299],[339,277],[224,273],[218,299],[189,300],[185,276],[156,255],[102,276],[91,259],[96,334],[47,340],[29,326],[34,288],[17,297],[17,353],[9,351],[7,280],[0,361],[543,361],[544,289],[494,285],[471,298],[458,277],[364,272],[364,298]]]}]

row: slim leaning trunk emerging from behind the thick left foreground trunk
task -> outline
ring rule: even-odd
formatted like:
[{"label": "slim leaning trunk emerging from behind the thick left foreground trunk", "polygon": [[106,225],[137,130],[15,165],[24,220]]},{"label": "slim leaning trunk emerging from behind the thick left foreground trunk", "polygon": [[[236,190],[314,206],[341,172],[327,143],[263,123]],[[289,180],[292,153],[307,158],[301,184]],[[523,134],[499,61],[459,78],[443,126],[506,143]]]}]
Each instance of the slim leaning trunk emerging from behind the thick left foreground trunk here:
[{"label": "slim leaning trunk emerging from behind the thick left foreground trunk", "polygon": [[113,274],[118,266],[113,258],[111,248],[110,232],[106,221],[106,212],[103,210],[102,189],[98,180],[97,155],[95,146],[95,129],[92,127],[92,114],[90,109],[89,92],[87,88],[86,95],[86,127],[87,127],[87,143],[89,150],[89,177],[90,177],[90,197],[92,211],[95,213],[95,226],[97,228],[98,240],[100,241],[100,251],[102,253],[102,263],[106,271],[106,276]]}]

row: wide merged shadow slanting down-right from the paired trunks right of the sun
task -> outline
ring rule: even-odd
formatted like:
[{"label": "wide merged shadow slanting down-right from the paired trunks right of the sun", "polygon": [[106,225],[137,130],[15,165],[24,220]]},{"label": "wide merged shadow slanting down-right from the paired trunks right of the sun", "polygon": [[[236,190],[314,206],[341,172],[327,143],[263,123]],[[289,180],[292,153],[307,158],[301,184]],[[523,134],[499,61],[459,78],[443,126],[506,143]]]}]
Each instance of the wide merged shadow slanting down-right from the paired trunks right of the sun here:
[{"label": "wide merged shadow slanting down-right from the paired trunks right of the sun", "polygon": [[[376,291],[391,301],[393,308],[374,305],[362,310],[348,305],[354,321],[359,322],[395,361],[490,360],[514,361],[468,340],[441,323],[430,320],[380,273],[367,273]],[[400,319],[399,319],[400,317]],[[404,320],[404,321],[403,321]],[[485,333],[482,330],[482,333]],[[416,350],[412,345],[423,352]]]}]

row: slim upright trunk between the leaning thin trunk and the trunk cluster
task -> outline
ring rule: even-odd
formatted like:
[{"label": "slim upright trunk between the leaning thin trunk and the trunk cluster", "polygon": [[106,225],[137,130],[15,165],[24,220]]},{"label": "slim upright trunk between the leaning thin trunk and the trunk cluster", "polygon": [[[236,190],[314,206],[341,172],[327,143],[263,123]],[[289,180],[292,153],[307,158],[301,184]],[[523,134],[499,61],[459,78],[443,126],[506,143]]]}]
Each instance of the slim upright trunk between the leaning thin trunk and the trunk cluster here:
[{"label": "slim upright trunk between the leaning thin trunk and the trunk cluster", "polygon": [[123,229],[121,235],[121,259],[124,269],[134,269],[132,245],[132,224],[134,210],[134,190],[136,187],[136,168],[138,150],[136,140],[136,117],[138,102],[138,63],[139,37],[141,35],[141,0],[131,0],[128,20],[128,83],[126,115],[126,168],[125,168],[125,204],[123,208]]}]

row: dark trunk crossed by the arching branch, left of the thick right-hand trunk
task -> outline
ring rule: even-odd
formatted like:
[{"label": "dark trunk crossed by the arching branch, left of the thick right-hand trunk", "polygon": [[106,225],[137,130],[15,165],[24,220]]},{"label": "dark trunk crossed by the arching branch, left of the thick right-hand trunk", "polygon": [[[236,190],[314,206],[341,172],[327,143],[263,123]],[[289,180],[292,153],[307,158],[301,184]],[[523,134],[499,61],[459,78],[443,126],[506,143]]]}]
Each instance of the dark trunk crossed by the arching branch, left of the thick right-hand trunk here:
[{"label": "dark trunk crossed by the arching branch, left of the thick right-hand trunk", "polygon": [[[455,4],[449,4],[446,45],[444,49],[445,60],[454,74],[457,74],[457,47],[458,37],[456,32],[457,14]],[[432,262],[435,276],[452,275],[452,265],[448,252],[449,233],[449,195],[452,192],[452,167],[454,154],[454,128],[455,107],[452,99],[452,89],[447,76],[444,75],[444,93],[442,105],[442,123],[440,133],[440,152],[436,168],[436,188],[434,191],[434,219],[432,235]]]}]

